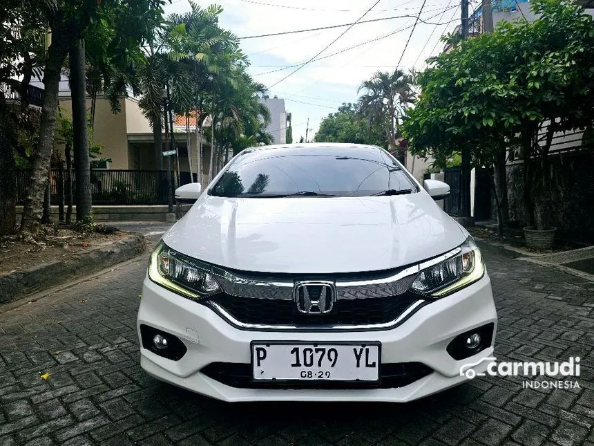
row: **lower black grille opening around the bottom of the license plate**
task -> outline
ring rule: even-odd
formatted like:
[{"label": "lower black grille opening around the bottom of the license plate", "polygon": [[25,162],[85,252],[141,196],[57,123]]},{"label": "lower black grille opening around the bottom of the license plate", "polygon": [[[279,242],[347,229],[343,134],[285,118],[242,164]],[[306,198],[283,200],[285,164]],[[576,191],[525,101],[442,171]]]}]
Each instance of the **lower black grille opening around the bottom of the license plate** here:
[{"label": "lower black grille opening around the bottom of the license plate", "polygon": [[405,387],[432,373],[432,369],[421,362],[397,362],[381,364],[380,382],[253,382],[251,364],[213,362],[202,370],[204,375],[222,384],[239,389],[394,389]]}]

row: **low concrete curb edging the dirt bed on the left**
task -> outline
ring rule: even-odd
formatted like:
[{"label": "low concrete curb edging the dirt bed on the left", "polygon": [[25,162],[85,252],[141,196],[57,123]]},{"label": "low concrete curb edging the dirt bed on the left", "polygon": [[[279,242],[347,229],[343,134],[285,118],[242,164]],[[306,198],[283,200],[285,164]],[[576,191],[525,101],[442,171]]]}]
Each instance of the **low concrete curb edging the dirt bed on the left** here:
[{"label": "low concrete curb edging the dirt bed on the left", "polygon": [[77,254],[73,258],[0,275],[0,304],[7,304],[34,292],[86,276],[144,252],[146,241],[141,234],[130,234],[111,245]]}]

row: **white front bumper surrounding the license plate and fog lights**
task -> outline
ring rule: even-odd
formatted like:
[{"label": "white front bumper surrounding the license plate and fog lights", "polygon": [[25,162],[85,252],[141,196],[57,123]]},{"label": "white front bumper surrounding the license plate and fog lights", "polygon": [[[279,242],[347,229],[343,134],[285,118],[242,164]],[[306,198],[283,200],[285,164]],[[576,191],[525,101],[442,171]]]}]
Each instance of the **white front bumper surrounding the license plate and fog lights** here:
[{"label": "white front bumper surrounding the license plate and fog lights", "polygon": [[[464,360],[454,360],[446,347],[457,335],[494,324],[491,346]],[[178,360],[168,360],[141,347],[140,364],[149,375],[206,396],[240,401],[385,401],[406,402],[461,384],[464,364],[479,362],[493,353],[497,312],[490,279],[420,308],[401,326],[384,331],[280,332],[243,331],[231,326],[207,306],[180,297],[144,279],[137,329],[145,324],[171,333],[187,348]],[[381,342],[381,362],[421,362],[432,373],[404,387],[390,389],[251,389],[222,384],[201,372],[208,364],[249,364],[251,341]],[[142,344],[142,343],[141,343]],[[472,367],[485,371],[488,362]]]}]

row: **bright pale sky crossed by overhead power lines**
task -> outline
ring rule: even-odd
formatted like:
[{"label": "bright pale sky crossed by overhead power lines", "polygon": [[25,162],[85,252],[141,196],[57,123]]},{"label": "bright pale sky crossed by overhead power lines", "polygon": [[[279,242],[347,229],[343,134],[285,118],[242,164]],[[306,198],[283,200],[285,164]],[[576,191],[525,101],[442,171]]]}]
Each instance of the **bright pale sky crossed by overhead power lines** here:
[{"label": "bright pale sky crossed by overhead power lines", "polygon": [[[224,9],[220,26],[240,37],[241,48],[249,57],[249,73],[269,87],[269,95],[285,99],[292,115],[293,139],[305,137],[309,119],[312,140],[320,121],[334,113],[343,102],[356,102],[358,86],[376,71],[425,68],[425,59],[443,48],[441,35],[460,23],[459,0],[218,0],[198,1],[202,7],[218,3]],[[470,12],[479,1],[470,1]],[[419,21],[407,46],[415,17],[423,6]],[[332,28],[287,35],[250,38],[276,32],[320,28],[358,21],[372,8],[365,20],[347,30]],[[188,0],[173,0],[166,14],[190,10]],[[399,18],[390,18],[390,17]],[[437,23],[441,25],[436,25]],[[345,32],[347,30],[347,32]],[[341,36],[341,34],[344,35]],[[297,66],[314,57],[337,37],[338,40],[296,73]],[[376,39],[376,40],[374,40]],[[355,48],[350,48],[356,46]],[[336,52],[341,52],[333,55]],[[399,60],[401,60],[399,64]],[[280,81],[280,82],[279,82]],[[278,84],[277,84],[278,83]],[[275,85],[276,84],[276,85]]]}]

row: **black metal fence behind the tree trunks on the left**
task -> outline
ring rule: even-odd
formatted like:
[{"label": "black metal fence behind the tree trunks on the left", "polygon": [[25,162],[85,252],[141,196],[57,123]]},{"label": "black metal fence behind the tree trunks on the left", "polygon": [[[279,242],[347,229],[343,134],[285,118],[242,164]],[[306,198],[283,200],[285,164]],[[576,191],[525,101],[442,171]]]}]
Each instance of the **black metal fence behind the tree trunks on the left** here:
[{"label": "black metal fence behind the tree trunks on the left", "polygon": [[[17,204],[25,202],[31,172],[17,172]],[[73,196],[76,194],[76,174],[72,171]],[[171,173],[173,182],[173,173]],[[62,183],[63,182],[63,183]],[[50,202],[58,204],[59,184],[64,184],[66,171],[52,170]],[[91,169],[90,189],[94,205],[166,205],[169,203],[166,170]]]}]

